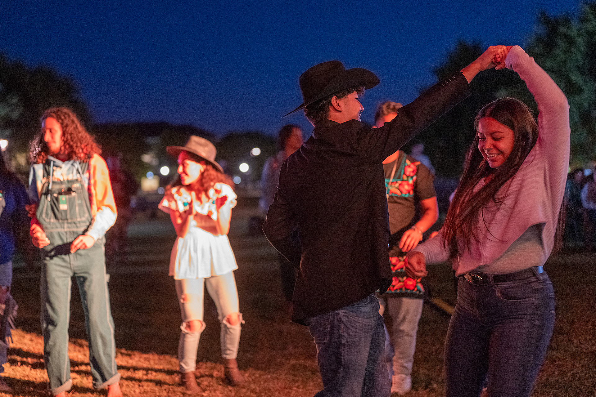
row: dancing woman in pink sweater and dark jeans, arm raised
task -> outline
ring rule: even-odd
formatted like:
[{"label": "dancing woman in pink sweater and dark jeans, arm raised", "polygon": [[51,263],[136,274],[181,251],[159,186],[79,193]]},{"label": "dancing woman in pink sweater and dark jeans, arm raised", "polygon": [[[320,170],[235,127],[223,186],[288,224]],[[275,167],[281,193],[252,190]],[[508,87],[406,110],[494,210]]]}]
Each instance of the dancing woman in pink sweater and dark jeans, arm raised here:
[{"label": "dancing woman in pink sweater and dark jeans, arm raised", "polygon": [[[446,396],[529,396],[554,324],[542,265],[560,240],[569,166],[569,105],[519,46],[505,66],[538,104],[501,98],[476,116],[476,138],[439,235],[408,254],[410,277],[451,260],[460,277],[445,342]],[[476,146],[478,150],[474,146]]]}]

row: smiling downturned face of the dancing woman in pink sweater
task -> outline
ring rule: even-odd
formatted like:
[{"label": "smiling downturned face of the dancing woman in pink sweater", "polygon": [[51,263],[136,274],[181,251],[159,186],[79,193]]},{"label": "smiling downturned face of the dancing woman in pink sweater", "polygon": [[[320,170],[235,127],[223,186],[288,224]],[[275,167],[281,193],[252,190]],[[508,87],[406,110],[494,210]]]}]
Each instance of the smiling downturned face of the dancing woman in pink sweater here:
[{"label": "smiling downturned face of the dancing woman in pink sweater", "polygon": [[515,134],[512,129],[499,123],[492,117],[483,117],[478,121],[478,150],[491,168],[499,168],[507,160]]}]

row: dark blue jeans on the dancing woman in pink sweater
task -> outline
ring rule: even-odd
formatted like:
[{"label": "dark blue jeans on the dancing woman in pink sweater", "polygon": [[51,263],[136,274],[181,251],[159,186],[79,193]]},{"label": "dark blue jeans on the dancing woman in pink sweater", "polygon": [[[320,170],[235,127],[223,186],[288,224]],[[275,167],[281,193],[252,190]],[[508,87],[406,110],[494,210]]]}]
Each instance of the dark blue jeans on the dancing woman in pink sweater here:
[{"label": "dark blue jeans on the dancing woman in pink sweater", "polygon": [[474,285],[460,277],[445,342],[447,397],[529,396],[554,326],[547,273]]}]

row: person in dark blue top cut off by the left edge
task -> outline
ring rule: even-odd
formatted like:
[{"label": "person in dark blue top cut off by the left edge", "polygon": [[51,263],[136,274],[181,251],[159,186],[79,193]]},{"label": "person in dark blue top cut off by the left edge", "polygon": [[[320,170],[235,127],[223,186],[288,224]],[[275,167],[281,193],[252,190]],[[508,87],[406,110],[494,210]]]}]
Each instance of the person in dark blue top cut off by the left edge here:
[{"label": "person in dark blue top cut off by the left edge", "polygon": [[[15,235],[20,239],[22,231],[29,228],[26,205],[29,197],[17,175],[8,170],[4,154],[0,153],[0,373],[6,364],[8,340],[14,329],[17,302],[10,294],[13,283],[13,254]],[[13,390],[0,377],[0,392]]]}]

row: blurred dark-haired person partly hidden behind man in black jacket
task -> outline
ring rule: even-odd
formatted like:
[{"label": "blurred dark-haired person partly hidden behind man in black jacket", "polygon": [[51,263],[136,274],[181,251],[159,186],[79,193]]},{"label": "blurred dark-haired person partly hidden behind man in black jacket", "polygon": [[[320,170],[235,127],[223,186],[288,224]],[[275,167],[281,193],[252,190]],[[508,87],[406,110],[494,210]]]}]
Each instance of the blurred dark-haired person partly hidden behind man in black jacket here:
[{"label": "blurred dark-haired person partly hidden behind man in black jacket", "polygon": [[[280,146],[280,151],[275,156],[269,157],[263,165],[263,173],[261,177],[261,187],[263,195],[259,200],[259,210],[263,215],[267,214],[269,205],[273,204],[275,191],[277,190],[277,183],[280,180],[281,164],[293,152],[300,149],[302,146],[303,137],[302,130],[296,124],[285,124],[281,127],[277,134],[277,142]],[[292,301],[294,293],[294,284],[296,283],[297,270],[290,261],[284,258],[284,255],[277,253],[278,262],[280,263],[281,273],[281,287],[284,292],[285,300]]]}]

